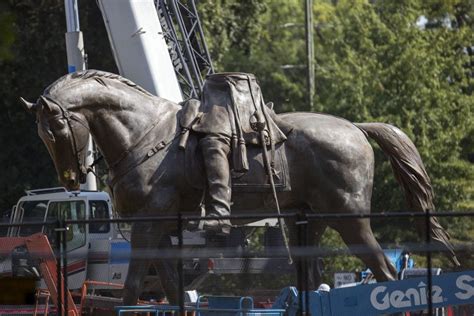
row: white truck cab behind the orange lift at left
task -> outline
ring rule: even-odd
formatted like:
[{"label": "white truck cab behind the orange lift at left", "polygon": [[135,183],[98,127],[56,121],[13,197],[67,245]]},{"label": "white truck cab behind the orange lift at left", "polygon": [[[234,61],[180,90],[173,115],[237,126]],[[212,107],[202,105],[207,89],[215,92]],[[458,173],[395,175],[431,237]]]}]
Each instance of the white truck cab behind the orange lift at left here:
[{"label": "white truck cab behind the orange lift at left", "polygon": [[[48,236],[53,250],[57,249],[56,224],[58,215],[69,220],[110,219],[112,203],[106,192],[73,191],[50,188],[26,191],[13,207],[10,224],[38,223],[11,226],[4,241],[12,237],[28,237],[36,233]],[[126,232],[124,233],[126,235]],[[97,222],[71,224],[67,227],[68,287],[79,289],[85,280],[123,283],[128,268],[130,244],[124,239],[118,224]],[[1,251],[1,243],[0,243]],[[13,259],[14,260],[14,259]],[[20,271],[20,269],[22,269]],[[12,264],[12,257],[0,258],[0,275],[35,274],[27,264]]]}]

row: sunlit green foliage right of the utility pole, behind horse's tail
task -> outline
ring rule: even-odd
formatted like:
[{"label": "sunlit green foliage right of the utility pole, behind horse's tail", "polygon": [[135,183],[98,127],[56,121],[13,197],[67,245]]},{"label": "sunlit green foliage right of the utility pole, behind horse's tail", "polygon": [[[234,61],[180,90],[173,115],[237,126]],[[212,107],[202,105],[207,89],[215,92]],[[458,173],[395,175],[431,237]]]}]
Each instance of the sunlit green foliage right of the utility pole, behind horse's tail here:
[{"label": "sunlit green foliage right of the utility pole, behind horse's tail", "polygon": [[[450,15],[466,3],[338,1],[315,7],[316,98],[321,109],[404,130],[431,176],[435,205],[447,211],[473,205],[473,169],[462,154],[473,129],[473,82],[464,49],[474,43],[473,28],[472,23],[456,22],[459,15]],[[417,25],[420,17],[443,23],[422,27]],[[374,211],[404,210],[389,163],[380,151],[376,155]],[[472,236],[472,220],[443,223],[455,239]],[[375,224],[383,242],[417,240],[413,232],[401,229],[406,221]]]}]

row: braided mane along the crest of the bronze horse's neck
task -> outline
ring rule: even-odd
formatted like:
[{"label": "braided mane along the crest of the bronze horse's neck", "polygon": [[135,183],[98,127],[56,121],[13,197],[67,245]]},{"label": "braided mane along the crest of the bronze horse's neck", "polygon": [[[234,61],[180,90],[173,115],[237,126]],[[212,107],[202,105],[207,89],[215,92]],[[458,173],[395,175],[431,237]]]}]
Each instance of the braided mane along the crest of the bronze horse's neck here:
[{"label": "braided mane along the crest of the bronze horse's neck", "polygon": [[127,78],[124,78],[120,75],[113,74],[110,72],[106,72],[102,70],[94,70],[94,69],[73,72],[65,76],[62,76],[61,78],[53,82],[51,85],[49,85],[44,90],[43,95],[54,94],[60,89],[66,88],[74,83],[77,83],[77,80],[87,80],[87,79],[94,79],[105,87],[107,87],[107,83],[103,79],[112,79],[112,80],[118,81],[119,83],[123,83],[129,87],[132,87],[135,90],[138,90],[146,95],[153,96],[150,92],[146,91],[145,89],[143,89],[136,83],[132,82],[131,80],[128,80]]}]

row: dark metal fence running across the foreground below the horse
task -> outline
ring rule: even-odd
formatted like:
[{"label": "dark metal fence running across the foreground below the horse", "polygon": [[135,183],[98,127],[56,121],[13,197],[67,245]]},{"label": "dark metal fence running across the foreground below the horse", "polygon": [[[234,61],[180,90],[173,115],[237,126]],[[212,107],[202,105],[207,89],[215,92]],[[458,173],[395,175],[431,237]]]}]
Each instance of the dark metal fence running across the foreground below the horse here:
[{"label": "dark metal fence running across the foreground below the horse", "polygon": [[[86,219],[92,216],[86,215],[82,205],[69,203],[67,207],[69,211],[60,203],[50,207],[42,220],[30,217],[15,223],[12,218],[10,223],[0,223],[6,235],[0,238],[0,314],[114,313],[116,306],[133,301],[141,307],[123,307],[120,313],[184,315],[186,310],[204,315],[214,304],[213,315],[230,315],[232,308],[232,315],[237,315],[237,310],[247,315],[272,311],[271,315],[339,315],[344,307],[352,310],[352,315],[392,311],[474,315],[473,239],[461,242],[452,236],[453,250],[461,259],[461,266],[456,266],[443,259],[452,259],[450,249],[431,233],[437,229],[433,215],[443,222],[453,218],[472,221],[472,212],[232,215],[224,218],[239,225],[227,236],[200,230],[200,216]],[[275,225],[277,218],[286,223],[289,248],[281,227]],[[395,219],[405,220],[402,227],[408,231],[424,225],[421,239],[404,241],[396,249],[393,244],[388,245],[390,249],[374,249],[360,239],[363,236],[356,235],[342,234],[347,248],[316,242],[318,233],[324,232],[321,226],[351,227],[361,221],[390,223]],[[356,263],[359,271],[344,270],[348,269],[344,260],[353,255],[364,259]],[[384,271],[365,269],[371,264],[372,270],[379,268],[374,265],[380,263],[377,256],[391,259],[385,264],[397,269],[389,267],[394,281],[374,283],[374,275],[387,277]],[[418,267],[413,260],[420,262]],[[351,267],[354,269],[353,262]],[[25,284],[33,287],[33,293],[28,292],[28,286],[22,290]],[[14,293],[8,293],[8,286]],[[15,301],[22,291],[26,293],[24,301]],[[226,305],[215,303],[216,296],[239,299],[224,300]],[[365,306],[364,296],[373,310],[358,309]],[[174,307],[165,308],[165,303]]]}]

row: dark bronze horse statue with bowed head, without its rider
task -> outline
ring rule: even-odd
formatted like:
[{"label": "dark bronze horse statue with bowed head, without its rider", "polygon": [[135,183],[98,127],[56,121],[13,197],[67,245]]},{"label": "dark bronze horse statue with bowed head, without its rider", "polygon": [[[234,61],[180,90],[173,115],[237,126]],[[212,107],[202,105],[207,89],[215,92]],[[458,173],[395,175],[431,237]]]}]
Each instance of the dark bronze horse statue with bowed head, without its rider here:
[{"label": "dark bronze horse statue with bowed head, without its rider", "polygon": [[[36,113],[39,136],[60,182],[68,189],[78,189],[87,172],[84,157],[90,133],[110,168],[110,190],[122,217],[176,215],[185,210],[199,214],[202,190],[186,181],[184,155],[178,148],[179,104],[156,97],[121,76],[95,70],[63,76],[46,88],[35,104],[23,103]],[[282,210],[369,214],[374,153],[367,135],[389,156],[409,207],[420,212],[434,210],[430,180],[419,153],[399,129],[382,123],[353,124],[318,113],[286,113],[278,118],[294,127],[286,140],[291,191],[278,193]],[[268,213],[267,197],[268,193],[262,192],[235,193],[233,213]],[[309,242],[318,244],[327,226],[339,232],[348,246],[366,247],[367,251],[356,255],[377,280],[396,278],[368,218],[312,221]],[[172,230],[176,226],[170,222],[133,224],[125,304],[136,303],[147,273],[149,262],[140,254],[156,252],[161,236]],[[434,217],[431,237],[457,262],[449,236]],[[176,303],[173,266],[161,260],[155,264],[160,267],[168,300]]]}]

